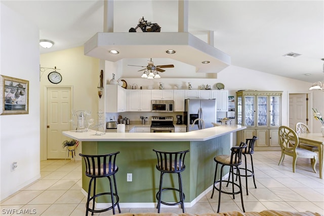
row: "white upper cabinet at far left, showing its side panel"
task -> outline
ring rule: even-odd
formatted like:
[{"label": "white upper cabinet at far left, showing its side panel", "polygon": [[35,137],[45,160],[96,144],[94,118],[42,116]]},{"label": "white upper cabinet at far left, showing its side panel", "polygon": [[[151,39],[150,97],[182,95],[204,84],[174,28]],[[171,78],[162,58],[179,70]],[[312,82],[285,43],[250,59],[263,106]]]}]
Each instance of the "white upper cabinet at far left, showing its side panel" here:
[{"label": "white upper cabinet at far left, showing its side panel", "polygon": [[127,90],[118,85],[106,85],[106,113],[127,111]]}]

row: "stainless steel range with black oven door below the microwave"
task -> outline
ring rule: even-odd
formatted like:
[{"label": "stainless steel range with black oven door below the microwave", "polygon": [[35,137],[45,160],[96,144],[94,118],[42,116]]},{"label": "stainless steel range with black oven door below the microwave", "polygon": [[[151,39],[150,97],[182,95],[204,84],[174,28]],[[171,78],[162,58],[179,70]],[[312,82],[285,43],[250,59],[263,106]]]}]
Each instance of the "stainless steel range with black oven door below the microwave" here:
[{"label": "stainless steel range with black oven door below the microwave", "polygon": [[151,117],[151,133],[173,133],[173,117],[172,116],[152,116]]}]

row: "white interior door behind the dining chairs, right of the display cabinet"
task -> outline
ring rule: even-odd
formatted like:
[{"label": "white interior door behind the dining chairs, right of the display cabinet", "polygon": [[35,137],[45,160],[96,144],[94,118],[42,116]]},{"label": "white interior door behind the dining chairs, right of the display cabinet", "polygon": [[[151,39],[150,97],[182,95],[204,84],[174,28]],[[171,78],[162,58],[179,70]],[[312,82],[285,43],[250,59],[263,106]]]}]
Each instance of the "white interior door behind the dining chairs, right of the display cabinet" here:
[{"label": "white interior door behind the dining chairs, right of the display cabinet", "polygon": [[295,130],[297,122],[308,125],[307,94],[289,94],[289,127]]}]

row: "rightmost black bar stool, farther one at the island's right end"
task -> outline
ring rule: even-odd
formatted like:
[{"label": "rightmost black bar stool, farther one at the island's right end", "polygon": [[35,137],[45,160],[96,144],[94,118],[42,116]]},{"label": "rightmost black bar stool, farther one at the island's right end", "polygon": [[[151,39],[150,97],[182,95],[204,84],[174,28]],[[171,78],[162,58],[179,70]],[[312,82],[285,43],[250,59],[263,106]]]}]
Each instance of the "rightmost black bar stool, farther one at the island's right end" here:
[{"label": "rightmost black bar stool, farther one at the island's right end", "polygon": [[[255,141],[258,139],[258,137],[253,136],[251,139],[246,139],[247,147],[242,151],[242,155],[244,155],[245,159],[245,168],[239,167],[239,169],[244,169],[245,174],[241,174],[240,176],[245,177],[246,180],[246,188],[247,188],[247,195],[249,195],[248,192],[248,177],[253,177],[253,183],[254,187],[257,188],[257,185],[255,184],[255,178],[254,178],[254,167],[253,167],[253,159],[252,159],[252,154],[254,154],[254,146],[255,146]],[[247,156],[250,155],[251,158],[251,169],[247,168]],[[249,174],[248,174],[249,172]],[[237,173],[236,173],[236,181],[237,181]]]}]

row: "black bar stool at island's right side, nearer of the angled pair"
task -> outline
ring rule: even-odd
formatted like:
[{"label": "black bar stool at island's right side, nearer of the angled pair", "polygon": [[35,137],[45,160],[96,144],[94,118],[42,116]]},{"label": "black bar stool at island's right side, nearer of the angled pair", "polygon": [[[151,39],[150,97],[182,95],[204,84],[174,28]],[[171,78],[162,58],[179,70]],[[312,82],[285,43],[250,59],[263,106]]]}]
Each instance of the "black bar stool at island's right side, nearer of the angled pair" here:
[{"label": "black bar stool at island's right side, nearer of the angled pair", "polygon": [[[235,194],[240,194],[242,209],[243,209],[243,212],[245,212],[244,204],[243,204],[241,178],[240,178],[238,166],[242,163],[242,158],[241,158],[242,150],[246,147],[247,147],[246,143],[241,142],[239,146],[235,146],[235,147],[231,148],[231,155],[218,155],[214,158],[214,161],[216,162],[216,168],[215,168],[215,176],[214,176],[214,184],[213,184],[213,193],[212,193],[211,199],[214,196],[215,189],[217,191],[219,191],[217,213],[219,212],[219,209],[220,209],[222,193],[233,195],[233,199],[235,199]],[[216,181],[218,164],[222,165],[221,166],[221,175],[220,175],[220,179],[218,181]],[[224,166],[229,166],[228,181],[222,180]],[[234,168],[233,167],[236,167],[239,184],[234,183]],[[232,175],[232,181],[230,181],[230,175]],[[227,184],[230,183],[232,185],[232,192],[222,191],[222,182],[227,182]],[[219,188],[217,188],[217,186],[216,186],[218,183],[219,183]],[[236,186],[238,188],[237,191],[234,190],[234,186]],[[235,189],[237,189],[237,188],[235,188]]]}]

